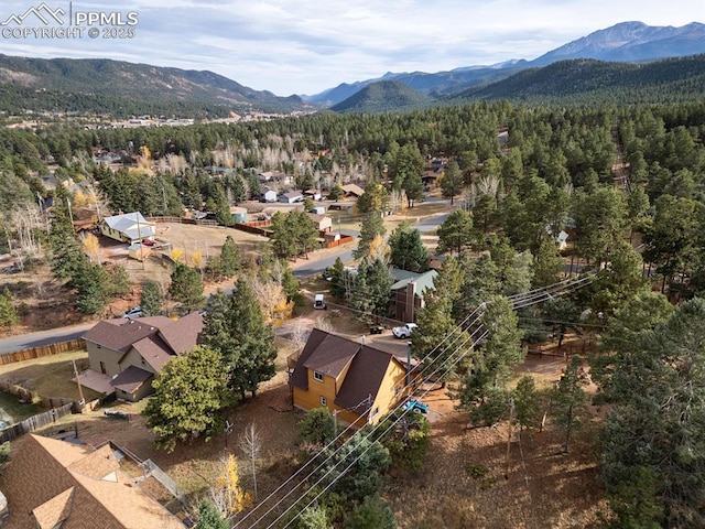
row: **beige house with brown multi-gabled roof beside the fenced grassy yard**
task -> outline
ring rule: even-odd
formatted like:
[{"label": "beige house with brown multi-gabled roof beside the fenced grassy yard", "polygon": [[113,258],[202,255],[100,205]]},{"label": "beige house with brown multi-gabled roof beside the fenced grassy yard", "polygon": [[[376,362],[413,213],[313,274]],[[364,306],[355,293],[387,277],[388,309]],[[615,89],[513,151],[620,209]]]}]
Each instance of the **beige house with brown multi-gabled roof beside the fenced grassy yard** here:
[{"label": "beige house with brown multi-gabled roof beside the fenced grassy yard", "polygon": [[175,355],[191,350],[203,331],[203,316],[104,320],[83,335],[90,369],[78,381],[100,393],[138,401],[152,392],[152,380]]}]

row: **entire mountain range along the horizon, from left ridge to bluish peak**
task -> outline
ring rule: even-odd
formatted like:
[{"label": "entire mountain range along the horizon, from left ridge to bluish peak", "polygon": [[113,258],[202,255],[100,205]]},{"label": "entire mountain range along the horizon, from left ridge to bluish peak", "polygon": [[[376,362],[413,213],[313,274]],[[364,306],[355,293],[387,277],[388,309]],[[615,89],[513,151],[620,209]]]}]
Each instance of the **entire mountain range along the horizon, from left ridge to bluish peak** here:
[{"label": "entire mountain range along the horizon, from left ridge to bluish peak", "polygon": [[[641,75],[643,80],[647,75],[643,72],[649,71],[639,73],[621,66],[615,69],[600,66],[604,63],[599,62],[639,64],[704,53],[705,24],[693,22],[672,28],[623,22],[570,42],[533,61],[508,61],[437,73],[387,73],[375,79],[341,84],[321,94],[301,97],[278,97],[267,90],[253,90],[208,71],[105,58],[42,60],[0,54],[0,111],[93,112],[116,117],[150,114],[198,118],[227,117],[248,110],[291,112],[332,108],[334,111],[386,111],[426,106],[438,100],[512,97],[511,94],[520,98],[535,97],[541,90],[560,96],[565,90],[593,86],[590,75],[603,75],[603,80],[611,79],[611,86],[616,86],[620,83],[618,79],[626,79],[625,76]],[[540,68],[570,60],[595,60],[597,63],[578,62],[570,67],[558,67],[557,73],[551,75],[557,75],[560,86],[554,83],[551,87],[549,74],[541,74]],[[701,63],[694,65],[697,75],[699,66]],[[673,67],[671,64],[666,69]],[[565,78],[566,75],[576,75],[584,80],[579,84],[574,82],[571,88],[571,79]],[[671,82],[680,83],[679,79]],[[688,89],[692,90],[697,83],[690,83]],[[594,87],[598,90],[606,88],[605,83]],[[632,86],[632,89],[638,89],[638,86]]]}]

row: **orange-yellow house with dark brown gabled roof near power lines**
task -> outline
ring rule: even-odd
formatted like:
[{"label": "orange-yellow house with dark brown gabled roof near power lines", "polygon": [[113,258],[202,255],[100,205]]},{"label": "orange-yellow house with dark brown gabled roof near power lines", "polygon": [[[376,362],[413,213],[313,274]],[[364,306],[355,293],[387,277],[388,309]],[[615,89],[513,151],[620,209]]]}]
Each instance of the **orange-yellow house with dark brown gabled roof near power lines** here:
[{"label": "orange-yellow house with dark brown gabled roof near power lines", "polygon": [[409,395],[406,371],[405,355],[314,328],[291,373],[294,406],[305,411],[325,407],[361,428]]}]

